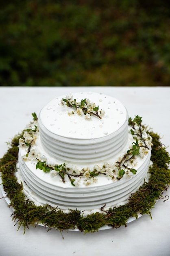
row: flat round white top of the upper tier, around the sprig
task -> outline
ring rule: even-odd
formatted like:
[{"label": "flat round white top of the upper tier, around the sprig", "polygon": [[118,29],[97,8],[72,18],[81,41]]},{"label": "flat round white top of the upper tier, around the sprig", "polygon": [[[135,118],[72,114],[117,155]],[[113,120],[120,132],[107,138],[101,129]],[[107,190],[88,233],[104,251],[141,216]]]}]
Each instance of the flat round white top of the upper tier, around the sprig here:
[{"label": "flat round white top of the upper tier, around the sprig", "polygon": [[[95,103],[98,111],[102,110],[102,119],[91,115],[78,115],[75,108],[63,104],[62,99],[86,99]],[[103,111],[104,110],[104,111]],[[95,139],[112,134],[127,122],[127,111],[124,105],[113,97],[96,92],[79,92],[52,99],[42,108],[39,119],[43,126],[53,134],[75,139]]]}]

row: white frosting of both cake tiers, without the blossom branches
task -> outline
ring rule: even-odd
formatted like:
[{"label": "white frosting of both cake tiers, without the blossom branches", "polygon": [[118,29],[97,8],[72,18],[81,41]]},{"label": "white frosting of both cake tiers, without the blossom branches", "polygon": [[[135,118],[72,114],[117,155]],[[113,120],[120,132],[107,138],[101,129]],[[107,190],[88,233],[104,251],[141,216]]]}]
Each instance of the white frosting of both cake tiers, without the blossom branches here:
[{"label": "white frosting of both cake tiers, without the blossom branches", "polygon": [[[88,121],[84,116],[69,116],[68,111],[72,109],[59,104],[65,96],[53,99],[41,110],[38,119],[40,132],[33,146],[40,151],[41,159],[43,156],[49,164],[76,164],[81,170],[93,168],[95,164],[103,166],[103,162],[112,166],[127,152],[133,137],[128,132],[126,108],[117,99],[103,94],[74,94],[77,101],[87,97],[99,105],[99,109],[105,110],[105,117],[92,116]],[[63,210],[87,211],[100,209],[105,204],[113,207],[127,200],[147,177],[151,155],[149,151],[143,158],[136,157],[137,173],[131,173],[130,178],[124,175],[121,180],[113,182],[107,175],[98,175],[96,183],[85,186],[84,177],[81,177],[79,186],[75,187],[69,178],[63,183],[59,175],[52,177],[51,173],[36,169],[37,160],[24,161],[26,153],[27,149],[20,147],[17,176],[23,182],[28,198],[37,205],[49,203]]]}]

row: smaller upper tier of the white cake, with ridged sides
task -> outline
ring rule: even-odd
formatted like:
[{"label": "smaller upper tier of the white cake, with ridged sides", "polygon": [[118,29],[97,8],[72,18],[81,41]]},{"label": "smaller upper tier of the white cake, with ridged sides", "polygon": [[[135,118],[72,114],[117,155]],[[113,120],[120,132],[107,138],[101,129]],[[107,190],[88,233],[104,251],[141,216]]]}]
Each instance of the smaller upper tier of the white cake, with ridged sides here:
[{"label": "smaller upper tier of the white cake, with ridged sides", "polygon": [[92,164],[106,161],[119,153],[127,143],[128,113],[120,101],[95,92],[74,93],[76,102],[89,99],[102,119],[92,115],[72,114],[74,108],[63,106],[63,95],[50,101],[39,114],[41,143],[52,157],[62,162]]}]

